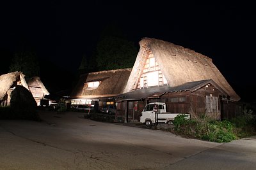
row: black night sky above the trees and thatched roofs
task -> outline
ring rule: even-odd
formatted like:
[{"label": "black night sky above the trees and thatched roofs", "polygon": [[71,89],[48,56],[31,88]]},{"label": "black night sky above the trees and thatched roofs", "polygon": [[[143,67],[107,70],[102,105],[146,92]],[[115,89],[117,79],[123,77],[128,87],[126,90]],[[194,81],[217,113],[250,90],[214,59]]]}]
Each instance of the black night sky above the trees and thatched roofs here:
[{"label": "black night sky above the trees and thatched roofs", "polygon": [[237,94],[252,101],[256,87],[252,4],[146,2],[2,3],[0,73],[8,73],[12,53],[26,42],[40,59],[40,77],[50,93],[68,89],[83,54],[91,56],[102,30],[113,24],[138,48],[141,38],[157,38],[210,57]]}]

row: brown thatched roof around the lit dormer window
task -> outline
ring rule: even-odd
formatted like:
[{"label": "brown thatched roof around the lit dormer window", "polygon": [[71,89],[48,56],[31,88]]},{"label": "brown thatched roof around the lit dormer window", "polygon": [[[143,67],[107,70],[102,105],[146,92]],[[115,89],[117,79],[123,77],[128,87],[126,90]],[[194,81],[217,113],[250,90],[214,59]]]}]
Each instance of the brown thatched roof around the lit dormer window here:
[{"label": "brown thatched roof around the lit dormer window", "polygon": [[[113,97],[122,94],[132,69],[116,69],[82,74],[71,98]],[[86,83],[100,81],[97,89],[87,89]]]}]

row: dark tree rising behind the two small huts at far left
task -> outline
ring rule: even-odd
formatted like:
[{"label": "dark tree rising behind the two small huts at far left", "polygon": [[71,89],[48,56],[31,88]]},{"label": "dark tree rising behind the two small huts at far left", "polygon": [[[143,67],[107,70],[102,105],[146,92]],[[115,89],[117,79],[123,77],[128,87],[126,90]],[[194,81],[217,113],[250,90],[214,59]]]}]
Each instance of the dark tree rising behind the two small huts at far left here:
[{"label": "dark tree rising behind the two small huts at far left", "polygon": [[38,76],[40,69],[35,53],[28,51],[15,52],[9,67],[9,72],[13,71],[21,71],[26,78]]}]

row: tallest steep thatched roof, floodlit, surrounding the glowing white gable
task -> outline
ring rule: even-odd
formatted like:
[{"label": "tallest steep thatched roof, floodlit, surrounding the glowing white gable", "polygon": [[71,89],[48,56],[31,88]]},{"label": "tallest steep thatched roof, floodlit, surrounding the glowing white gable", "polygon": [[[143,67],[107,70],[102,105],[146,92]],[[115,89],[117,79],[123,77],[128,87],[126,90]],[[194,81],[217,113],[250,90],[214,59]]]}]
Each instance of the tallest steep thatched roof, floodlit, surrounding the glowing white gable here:
[{"label": "tallest steep thatched roof, floodlit, surrounding the glowing white gable", "polygon": [[146,47],[153,53],[170,87],[179,86],[190,81],[212,79],[221,89],[227,92],[231,100],[239,101],[240,97],[212,63],[212,59],[188,48],[154,38],[141,39],[140,51],[124,92],[132,90],[134,83],[132,80],[139,76],[138,70],[143,69],[140,60],[145,57],[143,51]]}]

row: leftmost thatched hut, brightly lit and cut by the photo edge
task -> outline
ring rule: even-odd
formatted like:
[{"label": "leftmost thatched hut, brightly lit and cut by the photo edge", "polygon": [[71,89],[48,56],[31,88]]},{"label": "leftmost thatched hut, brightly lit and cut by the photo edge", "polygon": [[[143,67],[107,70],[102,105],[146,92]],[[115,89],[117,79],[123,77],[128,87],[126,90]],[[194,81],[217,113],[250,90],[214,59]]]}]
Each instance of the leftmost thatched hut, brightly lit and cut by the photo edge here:
[{"label": "leftmost thatched hut, brightly lit and cut by the photo edge", "polygon": [[11,93],[17,85],[22,85],[29,90],[25,75],[21,72],[15,71],[0,76],[0,105],[10,105]]}]

